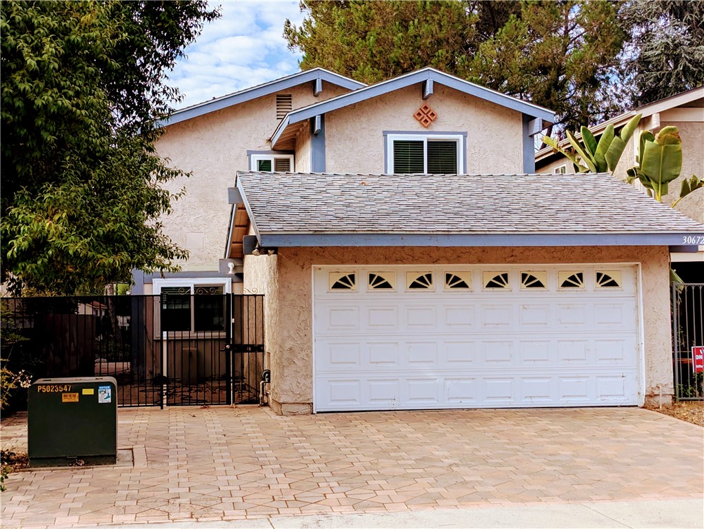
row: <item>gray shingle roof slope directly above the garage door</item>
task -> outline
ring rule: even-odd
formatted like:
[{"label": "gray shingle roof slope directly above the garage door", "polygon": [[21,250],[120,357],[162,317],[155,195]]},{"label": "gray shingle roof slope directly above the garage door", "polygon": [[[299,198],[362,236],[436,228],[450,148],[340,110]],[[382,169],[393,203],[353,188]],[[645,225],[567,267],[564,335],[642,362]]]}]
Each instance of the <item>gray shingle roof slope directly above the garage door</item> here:
[{"label": "gray shingle roof slope directly above the garage door", "polygon": [[704,234],[610,174],[238,172],[260,233]]}]

